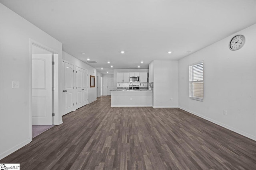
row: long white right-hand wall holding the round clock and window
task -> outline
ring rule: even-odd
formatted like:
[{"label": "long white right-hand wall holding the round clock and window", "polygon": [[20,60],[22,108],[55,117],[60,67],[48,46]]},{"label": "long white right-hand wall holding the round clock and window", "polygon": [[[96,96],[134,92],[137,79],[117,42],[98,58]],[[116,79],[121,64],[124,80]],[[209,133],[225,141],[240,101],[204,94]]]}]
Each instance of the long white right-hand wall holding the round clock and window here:
[{"label": "long white right-hand wall holding the round clock and window", "polygon": [[[232,37],[244,46],[231,51]],[[256,140],[256,25],[179,60],[179,107]],[[189,99],[188,65],[204,60],[204,102]],[[223,114],[227,111],[227,115]]]}]

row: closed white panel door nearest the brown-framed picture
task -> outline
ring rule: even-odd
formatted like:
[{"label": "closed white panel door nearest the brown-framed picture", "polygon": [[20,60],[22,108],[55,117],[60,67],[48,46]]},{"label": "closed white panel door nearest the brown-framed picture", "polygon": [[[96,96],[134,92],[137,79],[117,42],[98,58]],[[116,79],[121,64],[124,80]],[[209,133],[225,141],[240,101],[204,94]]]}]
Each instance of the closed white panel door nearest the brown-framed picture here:
[{"label": "closed white panel door nearest the brown-framed picture", "polygon": [[76,67],[76,109],[87,104],[87,70]]}]

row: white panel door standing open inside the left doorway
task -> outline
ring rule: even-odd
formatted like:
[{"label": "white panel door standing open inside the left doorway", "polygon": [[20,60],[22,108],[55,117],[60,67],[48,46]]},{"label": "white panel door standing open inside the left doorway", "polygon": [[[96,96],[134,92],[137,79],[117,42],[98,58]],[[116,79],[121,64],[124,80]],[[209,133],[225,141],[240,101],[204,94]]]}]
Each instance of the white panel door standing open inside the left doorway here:
[{"label": "white panel door standing open inside the left doorway", "polygon": [[52,125],[52,54],[32,54],[32,125]]}]

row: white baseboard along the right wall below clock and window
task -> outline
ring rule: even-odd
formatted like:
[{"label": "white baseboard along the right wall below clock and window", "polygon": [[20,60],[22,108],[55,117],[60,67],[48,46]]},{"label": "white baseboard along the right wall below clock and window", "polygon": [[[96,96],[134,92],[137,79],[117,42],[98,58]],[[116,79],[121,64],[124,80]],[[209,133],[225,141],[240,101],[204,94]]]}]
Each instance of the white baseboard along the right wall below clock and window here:
[{"label": "white baseboard along the right wall below clock and window", "polygon": [[185,108],[183,108],[183,107],[179,107],[179,108],[182,109],[182,110],[185,110],[185,111],[187,111],[187,112],[189,112],[189,113],[191,113],[191,114],[193,114],[193,115],[196,115],[196,116],[198,116],[198,117],[201,117],[201,118],[203,118],[203,119],[206,119],[206,120],[208,120],[208,121],[210,121],[210,122],[212,122],[212,123],[215,123],[216,125],[220,125],[220,126],[226,128],[226,129],[229,129],[230,131],[236,132],[236,133],[238,133],[238,134],[240,134],[240,135],[243,135],[243,136],[245,136],[245,137],[248,137],[248,138],[250,138],[250,139],[256,141],[256,136],[250,135],[250,134],[248,134],[248,133],[246,133],[246,132],[244,132],[244,131],[240,131],[240,130],[234,128],[234,127],[230,127],[230,126],[225,125],[225,124],[223,124],[223,123],[220,123],[220,122],[218,122],[218,121],[216,121],[216,120],[210,119],[209,117],[206,117],[206,116],[200,115],[200,114],[198,114],[198,113],[195,113],[194,111],[190,111],[190,110],[185,109]]}]

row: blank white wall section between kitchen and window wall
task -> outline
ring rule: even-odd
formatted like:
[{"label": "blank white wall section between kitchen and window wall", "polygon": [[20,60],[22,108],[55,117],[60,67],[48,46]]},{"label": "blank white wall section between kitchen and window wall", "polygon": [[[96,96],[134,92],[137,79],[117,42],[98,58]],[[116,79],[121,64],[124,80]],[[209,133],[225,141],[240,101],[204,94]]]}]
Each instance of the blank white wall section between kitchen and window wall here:
[{"label": "blank white wall section between kitchen and window wall", "polygon": [[178,107],[178,61],[154,60],[153,107]]}]

